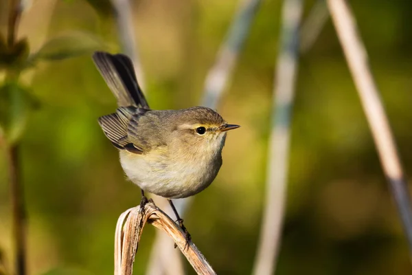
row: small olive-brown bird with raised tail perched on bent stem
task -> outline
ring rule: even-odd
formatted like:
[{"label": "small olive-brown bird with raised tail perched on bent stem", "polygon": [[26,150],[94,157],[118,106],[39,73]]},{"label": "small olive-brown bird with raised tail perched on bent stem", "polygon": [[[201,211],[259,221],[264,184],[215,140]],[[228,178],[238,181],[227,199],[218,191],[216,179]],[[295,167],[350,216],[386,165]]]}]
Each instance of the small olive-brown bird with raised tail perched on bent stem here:
[{"label": "small olive-brown bird with raised tail perched on bent stem", "polygon": [[118,105],[98,123],[119,150],[126,177],[141,188],[141,206],[148,201],[144,192],[168,199],[190,240],[172,199],[196,195],[214,181],[227,131],[240,126],[208,107],[150,109],[128,56],[95,52],[92,58]]}]

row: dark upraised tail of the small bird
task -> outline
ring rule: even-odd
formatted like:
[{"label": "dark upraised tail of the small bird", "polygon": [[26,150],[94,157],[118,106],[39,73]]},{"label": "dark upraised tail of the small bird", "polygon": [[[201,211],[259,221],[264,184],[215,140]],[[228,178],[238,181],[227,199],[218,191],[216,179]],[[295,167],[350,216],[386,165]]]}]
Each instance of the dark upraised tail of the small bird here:
[{"label": "dark upraised tail of the small bird", "polygon": [[149,109],[148,102],[137,83],[133,63],[128,56],[95,52],[93,61],[117,98],[119,107],[135,106]]}]

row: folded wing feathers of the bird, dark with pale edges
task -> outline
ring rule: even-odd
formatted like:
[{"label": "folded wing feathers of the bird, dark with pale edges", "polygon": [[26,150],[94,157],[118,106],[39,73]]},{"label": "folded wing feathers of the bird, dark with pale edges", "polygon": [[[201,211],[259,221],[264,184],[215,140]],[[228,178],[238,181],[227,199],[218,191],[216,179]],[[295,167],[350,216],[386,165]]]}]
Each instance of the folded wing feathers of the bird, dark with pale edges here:
[{"label": "folded wing feathers of the bird, dark with pale edges", "polygon": [[133,119],[133,115],[143,115],[146,111],[135,107],[119,107],[116,113],[100,117],[99,124],[104,135],[116,148],[141,154],[144,153],[143,148],[131,142],[128,137],[128,126],[130,120]]}]

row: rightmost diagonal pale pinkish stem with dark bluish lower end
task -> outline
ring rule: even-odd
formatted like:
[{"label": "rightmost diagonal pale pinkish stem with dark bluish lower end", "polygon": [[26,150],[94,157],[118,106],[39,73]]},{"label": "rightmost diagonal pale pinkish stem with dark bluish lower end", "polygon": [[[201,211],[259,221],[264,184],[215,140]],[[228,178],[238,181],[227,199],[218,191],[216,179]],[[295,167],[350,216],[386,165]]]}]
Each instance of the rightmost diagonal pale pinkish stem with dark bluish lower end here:
[{"label": "rightmost diagonal pale pinkish stem with dark bluish lower end", "polygon": [[398,205],[400,217],[409,241],[409,251],[412,255],[411,200],[385,109],[382,106],[378,88],[369,69],[367,52],[363,46],[361,36],[358,34],[356,22],[347,3],[343,0],[328,0],[327,2],[339,41],[350,67],[350,72],[358,89],[376,148],[378,149],[380,162],[389,180],[393,197]]}]

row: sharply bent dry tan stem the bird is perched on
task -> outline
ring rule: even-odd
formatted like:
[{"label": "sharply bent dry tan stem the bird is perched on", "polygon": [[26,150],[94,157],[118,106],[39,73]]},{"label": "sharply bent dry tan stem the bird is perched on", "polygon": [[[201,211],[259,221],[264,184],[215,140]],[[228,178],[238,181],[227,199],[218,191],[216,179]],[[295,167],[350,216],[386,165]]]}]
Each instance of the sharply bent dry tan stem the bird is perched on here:
[{"label": "sharply bent dry tan stem the bird is perched on", "polygon": [[[126,223],[122,227],[125,218]],[[186,242],[185,233],[170,217],[161,211],[155,203],[146,203],[144,210],[140,206],[130,208],[120,215],[115,232],[115,275],[131,275],[135,252],[137,252],[144,225],[150,223],[163,230],[176,243],[197,274],[216,274],[203,254],[190,241]]]}]

